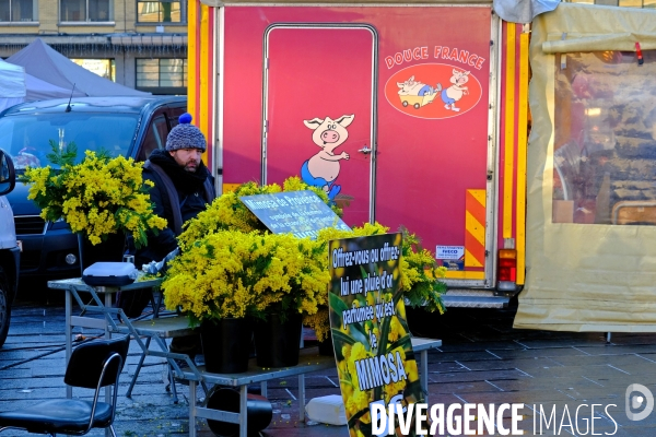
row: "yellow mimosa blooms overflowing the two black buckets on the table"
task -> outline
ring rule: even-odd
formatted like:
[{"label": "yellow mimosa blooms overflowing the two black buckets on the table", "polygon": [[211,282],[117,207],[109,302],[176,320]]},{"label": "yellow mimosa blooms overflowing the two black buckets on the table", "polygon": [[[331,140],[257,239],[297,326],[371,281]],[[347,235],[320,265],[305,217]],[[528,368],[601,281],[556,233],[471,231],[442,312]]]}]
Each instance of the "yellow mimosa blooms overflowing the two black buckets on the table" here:
[{"label": "yellow mimosa blooms overflowing the two black buckets on the table", "polygon": [[[261,317],[272,306],[315,315],[330,282],[318,255],[326,250],[323,245],[286,234],[218,231],[171,261],[162,283],[164,303],[185,311],[194,324]],[[304,260],[302,267],[297,259]]]}]

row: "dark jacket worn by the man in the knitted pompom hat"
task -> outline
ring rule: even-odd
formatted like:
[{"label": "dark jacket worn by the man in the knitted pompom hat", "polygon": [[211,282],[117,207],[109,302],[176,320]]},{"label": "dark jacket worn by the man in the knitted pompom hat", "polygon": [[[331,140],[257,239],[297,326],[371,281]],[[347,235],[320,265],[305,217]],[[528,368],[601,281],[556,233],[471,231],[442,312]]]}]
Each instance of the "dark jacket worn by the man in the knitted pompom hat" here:
[{"label": "dark jacket worn by the man in the knitted pompom hat", "polygon": [[[203,211],[208,203],[215,197],[213,177],[201,162],[196,173],[186,172],[165,150],[155,150],[151,153],[149,161],[159,165],[171,178],[177,192],[183,223],[196,217]],[[210,178],[210,192],[206,179]],[[134,263],[138,267],[151,261],[161,261],[166,255],[177,247],[176,229],[174,225],[174,213],[171,205],[166,185],[160,175],[148,165],[143,168],[143,179],[152,180],[154,187],[150,188],[151,200],[154,203],[154,213],[166,218],[167,227],[160,231],[157,235],[148,234],[148,246],[137,249]]]}]

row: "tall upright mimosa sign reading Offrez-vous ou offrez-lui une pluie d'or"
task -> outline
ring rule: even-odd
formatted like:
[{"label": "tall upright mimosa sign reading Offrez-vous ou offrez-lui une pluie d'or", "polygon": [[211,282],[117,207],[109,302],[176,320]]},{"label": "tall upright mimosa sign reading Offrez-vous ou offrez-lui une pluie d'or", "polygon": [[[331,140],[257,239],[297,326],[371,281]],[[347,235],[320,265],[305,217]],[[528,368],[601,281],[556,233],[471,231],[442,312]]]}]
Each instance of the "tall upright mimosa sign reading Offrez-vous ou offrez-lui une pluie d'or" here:
[{"label": "tall upright mimosa sign reading Offrez-vous ou offrez-lui une pluie d'or", "polygon": [[329,244],[332,346],[351,436],[373,435],[374,404],[423,402],[399,290],[401,244],[401,234]]}]

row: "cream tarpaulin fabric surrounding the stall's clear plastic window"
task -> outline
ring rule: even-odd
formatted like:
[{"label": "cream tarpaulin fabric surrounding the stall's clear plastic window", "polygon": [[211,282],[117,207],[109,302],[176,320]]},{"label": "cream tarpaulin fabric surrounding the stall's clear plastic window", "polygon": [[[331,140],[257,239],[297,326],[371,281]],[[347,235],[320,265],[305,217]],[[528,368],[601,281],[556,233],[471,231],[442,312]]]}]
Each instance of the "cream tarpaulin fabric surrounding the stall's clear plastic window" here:
[{"label": "cream tarpaulin fabric surrounding the stall's clear plastic window", "polygon": [[[563,34],[565,39],[561,42]],[[576,223],[572,221],[572,205],[569,204],[570,208],[563,213],[564,210],[559,211],[558,200],[554,200],[554,190],[560,189],[554,186],[554,167],[560,168],[559,161],[554,161],[554,149],[562,146],[562,143],[558,143],[559,122],[571,128],[569,120],[563,122],[569,114],[558,101],[563,97],[557,94],[557,87],[561,86],[561,91],[564,88],[570,94],[578,93],[581,99],[589,99],[590,90],[594,92],[594,86],[599,85],[599,78],[588,73],[578,74],[572,85],[563,85],[562,78],[573,74],[574,56],[596,56],[575,52],[601,51],[597,55],[601,59],[599,62],[606,61],[605,56],[611,59],[601,68],[637,68],[633,55],[602,51],[634,50],[636,42],[640,42],[643,50],[656,48],[655,35],[656,11],[647,10],[562,3],[555,11],[541,14],[534,22],[530,43],[532,78],[529,86],[532,128],[527,166],[527,271],[515,328],[656,332],[656,225],[610,225],[602,221]],[[559,52],[567,55],[554,55]],[[623,61],[612,63],[613,56],[623,56]],[[656,67],[645,62],[640,67],[642,70],[636,71],[648,72],[652,68]],[[559,72],[559,69],[562,71]],[[622,80],[626,79],[622,79],[621,74],[611,79],[617,81],[614,83]],[[644,83],[648,84],[648,81]],[[649,92],[653,90],[634,86],[633,93],[651,102]],[[612,92],[619,94],[622,90]],[[612,94],[598,98],[598,102],[602,105],[605,99],[611,98],[614,98]],[[631,108],[630,105],[625,107]],[[593,116],[606,109],[589,106],[586,110],[583,117],[591,120]],[[620,111],[613,116],[621,119],[626,115]],[[643,120],[646,115],[635,110],[634,117]],[[572,133],[572,137],[575,134]],[[636,144],[634,151],[641,150],[640,153],[656,150],[646,137],[623,138],[622,141],[629,145]],[[607,156],[618,153],[617,145],[612,149],[611,144],[608,150],[600,147]],[[574,152],[572,154],[575,155]],[[557,155],[565,162],[569,160],[565,153]],[[647,189],[649,184],[653,186],[649,177]],[[582,179],[586,182],[585,178]],[[607,179],[605,176],[602,185],[608,185]],[[605,201],[600,201],[597,197],[597,205],[606,203],[608,206],[608,196],[605,198]],[[564,201],[564,204],[567,202]],[[590,213],[585,205],[581,209],[574,210],[574,214]],[[567,216],[570,223],[566,223],[567,220],[557,220],[561,213]],[[591,216],[596,220],[594,213]]]}]

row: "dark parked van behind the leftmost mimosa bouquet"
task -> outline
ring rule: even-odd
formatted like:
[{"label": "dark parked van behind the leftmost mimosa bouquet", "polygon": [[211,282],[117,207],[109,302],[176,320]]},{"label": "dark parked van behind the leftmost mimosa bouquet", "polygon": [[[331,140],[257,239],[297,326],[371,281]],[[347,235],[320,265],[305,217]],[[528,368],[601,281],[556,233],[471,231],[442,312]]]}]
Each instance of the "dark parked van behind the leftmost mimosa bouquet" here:
[{"label": "dark parked van behind the leftmost mimosa bouquet", "polygon": [[[0,147],[12,156],[16,174],[26,166],[50,165],[46,155],[74,142],[78,161],[84,151],[108,151],[145,161],[164,149],[166,135],[187,110],[187,98],[73,97],[32,102],[0,113]],[[80,276],[78,238],[63,222],[46,223],[27,199],[30,187],[17,184],[8,197],[13,209],[16,237],[23,247],[21,279],[56,280]]]}]

